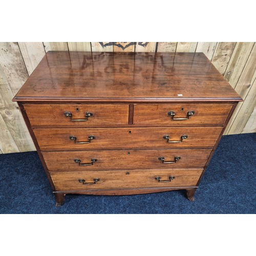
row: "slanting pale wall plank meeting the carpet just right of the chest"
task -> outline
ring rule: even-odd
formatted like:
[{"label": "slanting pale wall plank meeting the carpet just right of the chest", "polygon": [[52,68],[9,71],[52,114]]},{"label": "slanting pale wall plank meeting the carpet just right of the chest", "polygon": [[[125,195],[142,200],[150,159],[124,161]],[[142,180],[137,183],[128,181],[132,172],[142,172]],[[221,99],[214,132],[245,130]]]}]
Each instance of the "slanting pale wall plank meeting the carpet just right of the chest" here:
[{"label": "slanting pale wall plank meeting the carpet just right of the chest", "polygon": [[251,113],[256,105],[256,80],[254,80],[250,91],[245,98],[244,102],[240,102],[241,106],[234,121],[228,131],[228,134],[240,134],[242,133],[244,126],[246,125]]}]

